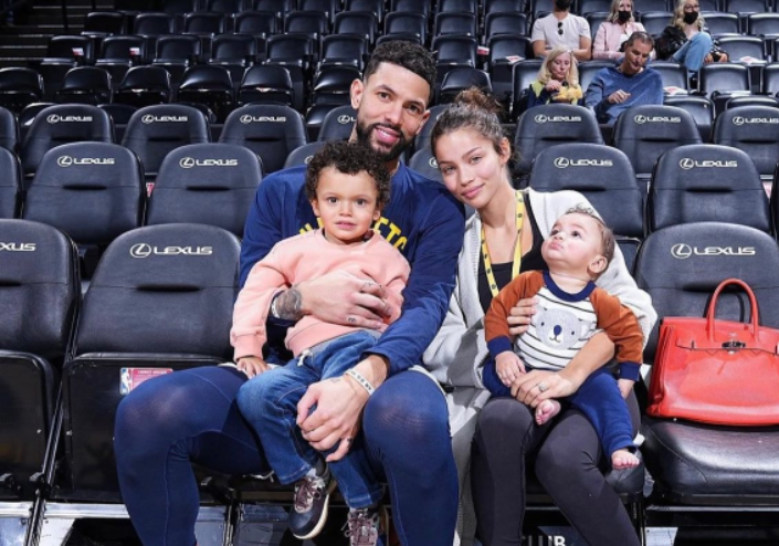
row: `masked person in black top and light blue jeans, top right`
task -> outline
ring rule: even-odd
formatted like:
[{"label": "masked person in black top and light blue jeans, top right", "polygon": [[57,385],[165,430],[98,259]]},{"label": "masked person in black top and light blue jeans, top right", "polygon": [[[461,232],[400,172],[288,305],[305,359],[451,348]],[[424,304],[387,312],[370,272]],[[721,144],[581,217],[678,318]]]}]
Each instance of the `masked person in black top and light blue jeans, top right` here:
[{"label": "masked person in black top and light blue jeans, top right", "polygon": [[657,55],[684,64],[691,73],[704,63],[727,62],[728,56],[705,30],[698,0],[678,0],[671,24],[657,39]]}]

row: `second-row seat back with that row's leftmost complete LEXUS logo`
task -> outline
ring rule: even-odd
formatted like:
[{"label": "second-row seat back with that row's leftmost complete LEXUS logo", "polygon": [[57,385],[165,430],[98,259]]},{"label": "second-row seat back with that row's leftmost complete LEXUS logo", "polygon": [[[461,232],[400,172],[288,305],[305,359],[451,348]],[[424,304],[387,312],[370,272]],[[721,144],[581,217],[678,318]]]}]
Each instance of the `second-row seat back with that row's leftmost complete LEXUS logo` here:
[{"label": "second-row seat back with that row's leftmost complete LEXUS logo", "polygon": [[43,156],[27,189],[22,218],[67,233],[86,260],[82,277],[94,271],[90,259],[118,235],[140,225],[144,175],[127,148],[107,143],[71,143]]}]

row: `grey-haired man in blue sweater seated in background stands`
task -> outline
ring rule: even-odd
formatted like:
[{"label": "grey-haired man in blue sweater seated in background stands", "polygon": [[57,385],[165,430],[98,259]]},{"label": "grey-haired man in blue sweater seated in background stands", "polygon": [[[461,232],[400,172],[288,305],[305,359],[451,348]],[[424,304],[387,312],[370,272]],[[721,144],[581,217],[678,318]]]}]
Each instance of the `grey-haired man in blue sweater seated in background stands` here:
[{"label": "grey-haired man in blue sweater seated in background stands", "polygon": [[625,42],[624,59],[596,74],[587,87],[585,105],[592,108],[598,122],[613,125],[619,115],[640,104],[663,104],[663,78],[646,67],[654,40],[646,32],[634,32]]}]

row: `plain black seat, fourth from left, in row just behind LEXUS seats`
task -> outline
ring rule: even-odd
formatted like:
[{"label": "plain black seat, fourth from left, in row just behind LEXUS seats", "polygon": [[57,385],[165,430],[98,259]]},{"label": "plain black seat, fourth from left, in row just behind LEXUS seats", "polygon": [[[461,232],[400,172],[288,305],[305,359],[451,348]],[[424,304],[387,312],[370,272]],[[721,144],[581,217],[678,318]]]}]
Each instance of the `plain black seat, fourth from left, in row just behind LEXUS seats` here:
[{"label": "plain black seat, fourth from left, in row just behind LEXUS seats", "polygon": [[203,104],[223,122],[234,107],[233,82],[224,66],[200,65],[187,69],[177,92],[179,103]]}]

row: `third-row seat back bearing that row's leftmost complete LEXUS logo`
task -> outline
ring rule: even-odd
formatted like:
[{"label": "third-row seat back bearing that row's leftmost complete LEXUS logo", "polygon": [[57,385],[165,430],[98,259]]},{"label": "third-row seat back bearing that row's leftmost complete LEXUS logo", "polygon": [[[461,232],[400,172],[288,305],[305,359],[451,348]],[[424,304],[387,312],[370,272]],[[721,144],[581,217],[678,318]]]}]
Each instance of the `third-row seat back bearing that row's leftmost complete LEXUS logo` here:
[{"label": "third-row seat back bearing that row's leftmost complete LEXUS logo", "polygon": [[35,116],[19,156],[24,174],[32,175],[52,148],[69,143],[113,141],[114,126],[104,111],[87,104],[57,104]]}]

